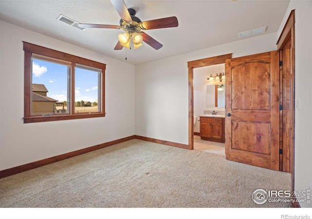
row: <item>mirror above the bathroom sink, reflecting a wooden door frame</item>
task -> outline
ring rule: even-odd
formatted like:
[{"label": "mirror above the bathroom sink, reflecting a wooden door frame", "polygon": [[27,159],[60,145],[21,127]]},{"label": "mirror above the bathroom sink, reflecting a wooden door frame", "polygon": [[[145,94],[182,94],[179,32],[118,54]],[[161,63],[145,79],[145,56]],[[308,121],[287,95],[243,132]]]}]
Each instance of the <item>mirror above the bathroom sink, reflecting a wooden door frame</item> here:
[{"label": "mirror above the bathroom sink, reflecting a wooden door frame", "polygon": [[207,108],[225,107],[225,84],[206,87]]}]

